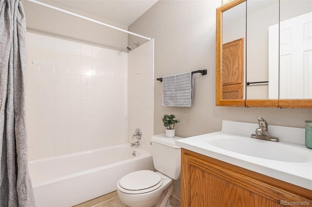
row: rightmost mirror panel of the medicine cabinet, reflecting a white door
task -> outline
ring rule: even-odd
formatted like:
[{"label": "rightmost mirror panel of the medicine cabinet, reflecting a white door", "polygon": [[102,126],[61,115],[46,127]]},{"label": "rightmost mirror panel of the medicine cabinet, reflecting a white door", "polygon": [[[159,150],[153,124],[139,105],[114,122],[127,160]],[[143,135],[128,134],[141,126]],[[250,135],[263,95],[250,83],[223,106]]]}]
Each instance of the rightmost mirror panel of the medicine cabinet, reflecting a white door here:
[{"label": "rightmost mirror panel of the medicine cabinet, reflecting a white door", "polygon": [[280,1],[279,98],[312,99],[312,1]]}]

